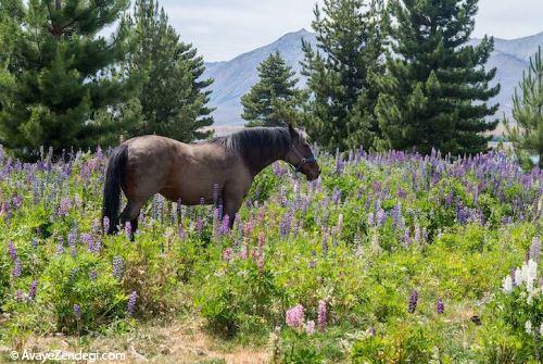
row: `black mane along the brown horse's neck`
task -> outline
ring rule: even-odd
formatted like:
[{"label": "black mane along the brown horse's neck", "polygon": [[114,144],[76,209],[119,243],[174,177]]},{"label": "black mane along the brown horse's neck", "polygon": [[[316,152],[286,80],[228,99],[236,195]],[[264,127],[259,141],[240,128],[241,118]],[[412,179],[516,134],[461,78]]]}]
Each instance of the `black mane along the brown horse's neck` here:
[{"label": "black mane along the brown horse's neck", "polygon": [[209,142],[220,145],[227,151],[238,153],[254,170],[275,155],[285,153],[291,146],[287,127],[252,127],[229,136],[217,137]]}]

